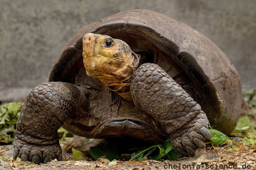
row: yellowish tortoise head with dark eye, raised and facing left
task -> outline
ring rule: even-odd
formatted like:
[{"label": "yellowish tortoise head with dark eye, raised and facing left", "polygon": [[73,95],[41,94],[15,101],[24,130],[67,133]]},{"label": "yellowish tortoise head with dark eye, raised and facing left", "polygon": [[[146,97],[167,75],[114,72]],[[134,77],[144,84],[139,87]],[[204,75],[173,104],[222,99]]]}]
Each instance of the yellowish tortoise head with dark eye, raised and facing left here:
[{"label": "yellowish tortoise head with dark eye, raised and facing left", "polygon": [[83,37],[83,62],[88,76],[99,78],[113,91],[127,91],[140,56],[124,41],[108,35],[86,33]]}]

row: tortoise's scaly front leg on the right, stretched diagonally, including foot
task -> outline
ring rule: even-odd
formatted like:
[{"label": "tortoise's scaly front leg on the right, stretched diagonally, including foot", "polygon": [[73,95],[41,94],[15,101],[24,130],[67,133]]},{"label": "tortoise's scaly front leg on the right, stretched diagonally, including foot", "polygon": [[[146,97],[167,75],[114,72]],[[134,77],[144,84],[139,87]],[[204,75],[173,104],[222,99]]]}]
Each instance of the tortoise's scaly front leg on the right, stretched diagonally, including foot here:
[{"label": "tortoise's scaly front leg on the right, stretched diagonally, including foot", "polygon": [[205,137],[211,137],[205,113],[161,67],[142,64],[133,74],[130,89],[135,105],[172,134],[176,151],[194,156],[198,147],[205,148]]}]

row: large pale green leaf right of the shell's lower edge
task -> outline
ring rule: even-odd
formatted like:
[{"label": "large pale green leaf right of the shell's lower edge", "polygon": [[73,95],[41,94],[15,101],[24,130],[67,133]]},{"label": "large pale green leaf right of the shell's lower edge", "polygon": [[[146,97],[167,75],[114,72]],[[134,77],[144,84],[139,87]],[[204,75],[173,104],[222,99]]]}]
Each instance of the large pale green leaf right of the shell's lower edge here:
[{"label": "large pale green leaf right of the shell's lower edge", "polygon": [[256,135],[256,130],[253,127],[250,117],[246,115],[239,119],[236,128],[231,132],[230,136],[248,137],[248,133]]}]

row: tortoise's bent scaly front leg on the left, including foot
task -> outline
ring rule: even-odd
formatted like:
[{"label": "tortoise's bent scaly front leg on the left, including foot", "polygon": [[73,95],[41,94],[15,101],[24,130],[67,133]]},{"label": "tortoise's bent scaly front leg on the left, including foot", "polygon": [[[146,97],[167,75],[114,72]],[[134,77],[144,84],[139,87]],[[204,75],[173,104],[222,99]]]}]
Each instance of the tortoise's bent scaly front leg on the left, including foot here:
[{"label": "tortoise's bent scaly front leg on the left, including foot", "polygon": [[61,160],[57,130],[72,109],[86,104],[88,91],[62,82],[42,83],[29,94],[20,112],[14,139],[13,159],[46,163]]}]

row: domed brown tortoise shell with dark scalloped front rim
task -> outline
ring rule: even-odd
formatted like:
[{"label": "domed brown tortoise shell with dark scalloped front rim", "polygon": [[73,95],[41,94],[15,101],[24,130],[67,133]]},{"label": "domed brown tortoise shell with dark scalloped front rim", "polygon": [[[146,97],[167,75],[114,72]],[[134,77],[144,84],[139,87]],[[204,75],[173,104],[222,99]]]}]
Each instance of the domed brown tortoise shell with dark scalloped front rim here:
[{"label": "domed brown tortoise shell with dark scalloped front rim", "polygon": [[85,33],[125,41],[141,58],[158,64],[186,90],[201,105],[213,128],[227,135],[235,128],[242,103],[240,77],[227,56],[202,33],[155,11],[120,12],[78,32],[55,59],[49,81],[102,88],[97,78],[85,73]]}]

